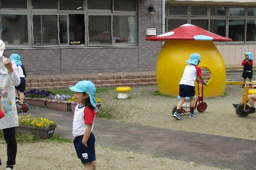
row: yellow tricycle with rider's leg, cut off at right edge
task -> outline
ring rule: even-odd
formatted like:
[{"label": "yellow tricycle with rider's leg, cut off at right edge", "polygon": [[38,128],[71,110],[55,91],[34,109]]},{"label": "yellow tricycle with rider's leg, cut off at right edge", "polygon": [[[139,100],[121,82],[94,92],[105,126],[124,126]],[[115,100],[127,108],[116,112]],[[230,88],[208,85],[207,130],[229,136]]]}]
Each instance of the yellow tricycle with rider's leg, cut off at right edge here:
[{"label": "yellow tricycle with rider's leg, cut off at right edge", "polygon": [[[256,89],[255,82],[247,82],[244,84],[242,102],[238,104],[233,104],[235,112],[240,117],[246,117],[250,113],[255,112],[254,101],[256,100]],[[250,106],[247,104],[249,102]]]}]

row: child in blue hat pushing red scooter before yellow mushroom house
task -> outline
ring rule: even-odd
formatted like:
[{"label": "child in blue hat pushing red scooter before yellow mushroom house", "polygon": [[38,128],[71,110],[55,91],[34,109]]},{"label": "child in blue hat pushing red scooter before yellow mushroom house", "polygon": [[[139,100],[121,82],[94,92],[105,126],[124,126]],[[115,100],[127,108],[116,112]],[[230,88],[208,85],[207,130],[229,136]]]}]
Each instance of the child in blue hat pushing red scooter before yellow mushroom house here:
[{"label": "child in blue hat pushing red scooter before yellow mushroom house", "polygon": [[180,101],[177,104],[176,112],[173,114],[173,116],[179,120],[183,119],[183,117],[180,115],[180,109],[182,104],[185,102],[185,97],[189,97],[190,99],[189,117],[193,118],[196,116],[196,113],[194,112],[196,77],[198,77],[206,85],[206,81],[202,76],[201,68],[198,66],[200,59],[201,56],[198,53],[192,53],[189,60],[186,62],[189,64],[184,69],[179,85]]}]

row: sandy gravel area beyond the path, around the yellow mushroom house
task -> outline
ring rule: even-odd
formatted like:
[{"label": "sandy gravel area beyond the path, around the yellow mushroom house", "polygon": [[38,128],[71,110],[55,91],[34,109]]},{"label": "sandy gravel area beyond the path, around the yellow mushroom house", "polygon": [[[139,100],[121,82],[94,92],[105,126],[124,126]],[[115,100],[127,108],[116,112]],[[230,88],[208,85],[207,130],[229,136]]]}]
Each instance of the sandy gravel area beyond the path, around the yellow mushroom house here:
[{"label": "sandy gravel area beyond the path, around the yellow mushroom house", "polygon": [[240,85],[226,85],[224,96],[204,97],[207,109],[202,113],[196,110],[195,118],[182,114],[183,120],[176,120],[171,113],[178,99],[152,95],[156,90],[157,86],[132,88],[131,99],[113,99],[114,91],[98,96],[102,98],[102,107],[116,108],[116,121],[256,140],[256,114],[239,117],[232,105],[241,102]]}]

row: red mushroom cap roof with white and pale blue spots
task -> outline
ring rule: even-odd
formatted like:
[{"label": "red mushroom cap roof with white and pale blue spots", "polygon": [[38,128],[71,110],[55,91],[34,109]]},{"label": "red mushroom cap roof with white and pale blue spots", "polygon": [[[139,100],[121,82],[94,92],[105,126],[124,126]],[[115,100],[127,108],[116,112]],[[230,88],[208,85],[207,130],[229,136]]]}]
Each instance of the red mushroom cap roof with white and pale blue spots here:
[{"label": "red mushroom cap roof with white and pale blue spots", "polygon": [[166,33],[156,36],[149,36],[146,38],[146,40],[158,41],[164,41],[168,39],[232,41],[231,38],[217,35],[208,30],[188,23],[174,28]]}]

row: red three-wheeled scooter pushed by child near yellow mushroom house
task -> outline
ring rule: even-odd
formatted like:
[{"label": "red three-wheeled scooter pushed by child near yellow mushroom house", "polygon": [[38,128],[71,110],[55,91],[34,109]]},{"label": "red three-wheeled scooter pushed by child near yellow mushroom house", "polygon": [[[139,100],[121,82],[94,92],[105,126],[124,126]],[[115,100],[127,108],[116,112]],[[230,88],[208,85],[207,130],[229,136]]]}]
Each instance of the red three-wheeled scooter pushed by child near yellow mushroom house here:
[{"label": "red three-wheeled scooter pushed by child near yellow mushroom house", "polygon": [[[197,99],[196,99],[196,103],[195,103],[195,108],[194,109],[197,109],[199,112],[203,112],[207,108],[207,103],[204,102],[204,99],[203,99],[204,85],[207,85],[207,84],[202,83],[202,81],[200,79],[196,79],[196,82],[197,82],[198,96],[197,96]],[[202,95],[200,94],[199,83],[202,84]],[[172,114],[175,113],[176,108],[177,108],[177,105],[175,105],[173,107]],[[181,113],[190,112],[190,108],[189,107],[188,108],[182,108],[181,107],[180,112]]]}]

